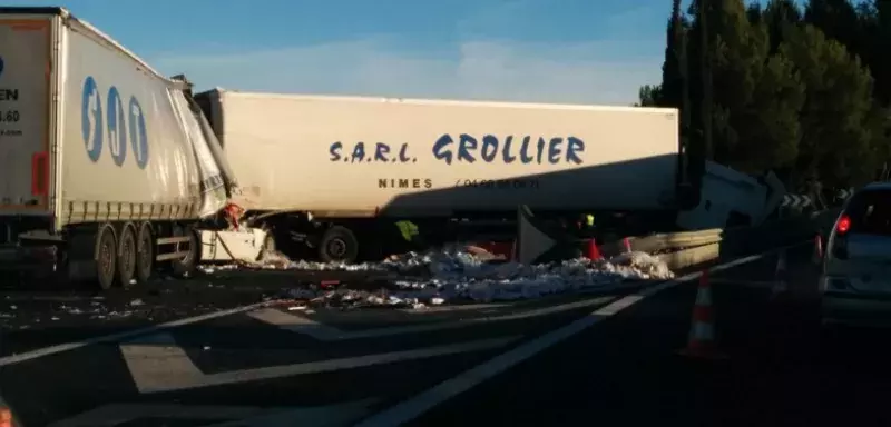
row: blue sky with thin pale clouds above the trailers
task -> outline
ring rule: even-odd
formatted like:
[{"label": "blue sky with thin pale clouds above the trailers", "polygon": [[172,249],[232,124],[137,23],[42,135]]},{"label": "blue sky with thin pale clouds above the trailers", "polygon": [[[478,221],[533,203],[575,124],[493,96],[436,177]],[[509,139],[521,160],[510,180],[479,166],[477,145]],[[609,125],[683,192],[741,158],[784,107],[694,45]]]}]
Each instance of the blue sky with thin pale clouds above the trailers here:
[{"label": "blue sky with thin pale clouds above the trailers", "polygon": [[[6,0],[4,6],[47,3]],[[196,89],[631,105],[670,0],[69,0]]]}]

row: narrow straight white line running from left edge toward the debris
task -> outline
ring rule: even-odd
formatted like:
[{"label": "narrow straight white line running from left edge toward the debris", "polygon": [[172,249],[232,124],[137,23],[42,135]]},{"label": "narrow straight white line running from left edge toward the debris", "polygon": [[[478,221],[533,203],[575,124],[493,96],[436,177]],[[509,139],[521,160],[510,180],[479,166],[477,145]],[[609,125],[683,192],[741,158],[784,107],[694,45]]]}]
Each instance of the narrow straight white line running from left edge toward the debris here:
[{"label": "narrow straight white line running from left edge toward the debris", "polygon": [[248,306],[236,307],[236,308],[228,309],[228,310],[214,311],[214,312],[208,312],[206,315],[177,319],[177,320],[168,321],[168,322],[165,322],[165,324],[151,325],[151,326],[147,326],[145,328],[125,330],[123,332],[104,335],[104,336],[99,336],[99,337],[91,337],[91,338],[86,338],[86,339],[80,340],[80,341],[60,344],[60,345],[57,345],[57,346],[43,347],[41,349],[37,349],[37,350],[33,350],[33,351],[26,351],[26,352],[20,352],[18,355],[0,357],[0,367],[7,366],[7,365],[20,364],[22,361],[33,360],[33,359],[37,359],[37,358],[40,358],[40,357],[56,355],[56,354],[59,354],[59,352],[77,350],[78,348],[84,348],[84,347],[91,346],[91,345],[95,345],[95,344],[106,344],[106,342],[123,341],[125,339],[128,339],[128,338],[131,338],[131,337],[137,337],[137,336],[140,336],[140,335],[149,335],[149,334],[154,334],[154,332],[157,332],[157,331],[173,329],[173,328],[176,328],[176,327],[179,327],[179,326],[184,326],[184,325],[195,324],[195,322],[204,321],[204,320],[210,320],[210,319],[215,319],[215,318],[218,318],[218,317],[225,317],[225,316],[229,316],[229,315],[235,315],[235,314],[238,314],[238,312],[251,311],[251,310],[256,309],[256,308],[265,307],[268,304],[270,304],[268,301],[257,302],[257,304],[252,304],[252,305],[248,305]]}]

